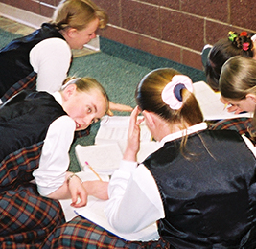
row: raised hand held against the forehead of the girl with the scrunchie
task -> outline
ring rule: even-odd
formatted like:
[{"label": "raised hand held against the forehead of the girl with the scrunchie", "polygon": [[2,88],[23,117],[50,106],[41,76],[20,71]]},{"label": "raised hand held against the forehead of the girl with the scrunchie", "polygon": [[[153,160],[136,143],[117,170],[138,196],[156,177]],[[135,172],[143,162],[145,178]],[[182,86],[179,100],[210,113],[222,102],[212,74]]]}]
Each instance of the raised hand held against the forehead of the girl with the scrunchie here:
[{"label": "raised hand held against the forehead of the girl with the scrunchie", "polygon": [[136,156],[140,149],[140,124],[144,119],[138,120],[140,111],[138,106],[134,108],[130,115],[128,127],[128,145],[124,153],[124,159],[136,162]]}]

